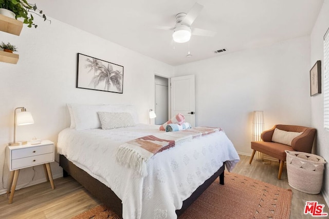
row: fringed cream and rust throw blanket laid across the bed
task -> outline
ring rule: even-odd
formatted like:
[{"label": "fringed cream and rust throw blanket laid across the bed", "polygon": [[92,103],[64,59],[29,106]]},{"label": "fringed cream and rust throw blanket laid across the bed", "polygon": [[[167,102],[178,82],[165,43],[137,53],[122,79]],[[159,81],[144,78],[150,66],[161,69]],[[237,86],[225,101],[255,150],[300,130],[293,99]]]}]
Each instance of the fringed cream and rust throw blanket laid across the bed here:
[{"label": "fringed cream and rust throw blanket laid across the bed", "polygon": [[133,168],[141,176],[147,176],[147,162],[154,154],[174,147],[179,142],[221,130],[220,128],[195,127],[139,137],[120,145],[116,152],[116,160],[121,165]]}]

